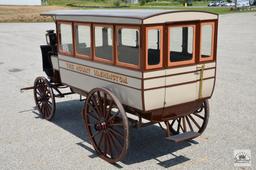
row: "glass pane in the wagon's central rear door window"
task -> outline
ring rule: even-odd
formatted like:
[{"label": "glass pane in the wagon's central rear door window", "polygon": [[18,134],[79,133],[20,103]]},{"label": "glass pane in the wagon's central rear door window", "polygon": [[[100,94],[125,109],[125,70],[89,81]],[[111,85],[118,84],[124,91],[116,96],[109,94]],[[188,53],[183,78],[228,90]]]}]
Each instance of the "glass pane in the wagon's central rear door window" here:
[{"label": "glass pane in the wagon's central rear door window", "polygon": [[193,57],[193,27],[171,27],[170,32],[170,61],[188,61]]}]

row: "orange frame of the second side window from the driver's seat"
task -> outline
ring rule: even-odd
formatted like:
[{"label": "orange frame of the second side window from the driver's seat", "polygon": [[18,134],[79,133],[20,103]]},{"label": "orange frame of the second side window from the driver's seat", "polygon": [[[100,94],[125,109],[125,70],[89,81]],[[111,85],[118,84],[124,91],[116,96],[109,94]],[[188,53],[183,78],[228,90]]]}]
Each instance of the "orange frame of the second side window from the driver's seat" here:
[{"label": "orange frame of the second side window from the driver's seat", "polygon": [[[90,27],[90,56],[88,55],[85,55],[85,54],[80,54],[79,52],[77,52],[77,48],[76,48],[76,40],[77,40],[77,37],[76,37],[76,32],[77,32],[77,29],[76,29],[76,26],[89,26]],[[73,28],[73,32],[74,32],[74,49],[75,49],[75,57],[77,58],[81,58],[81,59],[92,59],[92,54],[93,54],[93,41],[92,41],[92,26],[91,26],[91,23],[83,23],[83,22],[74,22],[74,28]]]}]

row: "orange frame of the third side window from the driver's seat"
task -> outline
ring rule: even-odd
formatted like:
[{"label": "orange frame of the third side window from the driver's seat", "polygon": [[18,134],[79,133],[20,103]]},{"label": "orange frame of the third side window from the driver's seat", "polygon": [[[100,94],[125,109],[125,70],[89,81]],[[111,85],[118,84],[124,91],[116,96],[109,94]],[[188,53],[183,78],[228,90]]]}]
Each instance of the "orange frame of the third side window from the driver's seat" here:
[{"label": "orange frame of the third side window from the driver's seat", "polygon": [[[101,57],[96,56],[96,40],[95,40],[95,27],[108,27],[112,29],[112,60],[104,59]],[[113,64],[115,61],[115,37],[114,37],[114,25],[113,24],[92,24],[93,28],[93,60],[102,62],[102,63],[108,63],[108,64]]]}]

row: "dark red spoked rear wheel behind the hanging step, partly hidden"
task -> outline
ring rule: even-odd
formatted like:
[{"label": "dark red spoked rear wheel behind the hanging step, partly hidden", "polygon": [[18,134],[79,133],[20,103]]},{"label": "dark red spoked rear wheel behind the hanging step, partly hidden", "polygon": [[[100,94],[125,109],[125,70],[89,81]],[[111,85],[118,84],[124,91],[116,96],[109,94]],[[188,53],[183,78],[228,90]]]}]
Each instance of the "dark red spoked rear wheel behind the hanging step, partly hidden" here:
[{"label": "dark red spoked rear wheel behind the hanging step, partly hidden", "polygon": [[209,119],[209,103],[205,100],[201,107],[193,113],[169,121],[169,129],[173,135],[184,132],[197,132],[202,134]]}]

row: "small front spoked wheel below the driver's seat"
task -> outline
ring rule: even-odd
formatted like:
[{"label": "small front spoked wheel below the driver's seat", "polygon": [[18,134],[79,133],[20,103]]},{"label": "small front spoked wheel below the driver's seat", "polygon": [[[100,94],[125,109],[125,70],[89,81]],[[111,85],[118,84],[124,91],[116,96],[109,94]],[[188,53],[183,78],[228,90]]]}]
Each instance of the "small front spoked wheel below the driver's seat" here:
[{"label": "small front spoked wheel below the driver's seat", "polygon": [[55,96],[46,78],[36,78],[34,82],[34,98],[41,117],[51,120],[55,113]]}]

